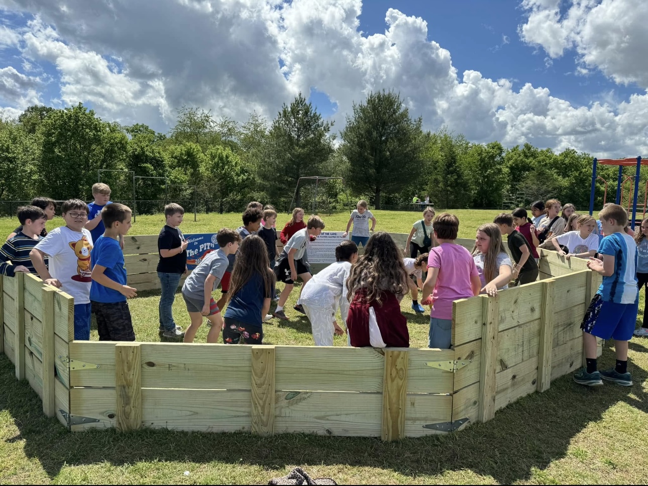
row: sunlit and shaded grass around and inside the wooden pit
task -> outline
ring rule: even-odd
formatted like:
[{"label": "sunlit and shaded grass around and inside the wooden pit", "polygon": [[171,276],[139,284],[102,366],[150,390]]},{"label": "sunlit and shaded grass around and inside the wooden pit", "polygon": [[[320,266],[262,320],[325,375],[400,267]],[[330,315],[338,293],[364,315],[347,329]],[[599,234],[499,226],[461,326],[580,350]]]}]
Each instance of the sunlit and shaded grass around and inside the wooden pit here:
[{"label": "sunlit and shaded grass around and inside the wooden pit", "polygon": [[[459,236],[499,211],[453,211],[461,220]],[[419,213],[374,212],[376,229],[408,233]],[[347,214],[323,214],[327,229],[343,231]],[[185,233],[212,232],[240,225],[238,214],[187,214]],[[282,226],[288,216],[279,216]],[[49,222],[48,228],[62,220]],[[133,235],[157,234],[161,216],[139,216]],[[0,235],[17,225],[0,219]],[[293,297],[294,299],[294,297]],[[152,293],[131,302],[138,340],[157,338],[157,301]],[[402,310],[410,324],[411,345],[424,346],[428,316],[415,316],[406,297]],[[292,320],[264,325],[269,343],[311,344],[310,325],[286,307]],[[640,312],[643,310],[643,293]],[[181,299],[174,315],[188,316]],[[204,342],[206,327],[196,336]],[[96,339],[96,331],[93,330]],[[336,345],[344,345],[336,338]],[[113,430],[71,434],[56,419],[46,419],[27,382],[0,356],[0,483],[21,484],[202,484],[267,483],[295,466],[314,477],[341,484],[638,484],[648,483],[648,340],[630,344],[634,386],[586,389],[564,376],[545,393],[535,393],[486,424],[457,434],[382,443],[379,439],[248,434],[198,434]],[[601,367],[614,365],[614,347],[606,344]],[[185,475],[189,472],[189,476]]]}]

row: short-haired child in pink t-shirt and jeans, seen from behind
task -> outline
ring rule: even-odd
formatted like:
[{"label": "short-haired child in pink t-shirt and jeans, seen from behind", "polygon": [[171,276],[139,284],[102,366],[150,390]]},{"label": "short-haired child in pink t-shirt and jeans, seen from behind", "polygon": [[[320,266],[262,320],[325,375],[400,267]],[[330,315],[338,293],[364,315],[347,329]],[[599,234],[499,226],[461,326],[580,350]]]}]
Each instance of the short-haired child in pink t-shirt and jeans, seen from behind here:
[{"label": "short-haired child in pink t-shirt and jeans, seen from behind", "polygon": [[[480,275],[470,252],[456,244],[459,219],[443,213],[434,221],[439,246],[430,249],[428,278],[421,302],[432,306],[428,347],[450,349],[452,345],[452,301],[480,293]],[[433,294],[434,292],[434,294]]]}]

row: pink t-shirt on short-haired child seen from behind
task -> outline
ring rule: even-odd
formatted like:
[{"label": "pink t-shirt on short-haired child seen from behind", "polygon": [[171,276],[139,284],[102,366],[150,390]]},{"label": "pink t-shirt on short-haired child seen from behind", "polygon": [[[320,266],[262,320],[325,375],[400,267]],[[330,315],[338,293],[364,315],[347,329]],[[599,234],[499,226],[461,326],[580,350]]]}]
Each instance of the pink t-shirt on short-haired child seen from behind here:
[{"label": "pink t-shirt on short-haired child seen from behind", "polygon": [[438,268],[439,276],[432,295],[436,297],[432,317],[452,319],[452,301],[472,297],[470,277],[479,275],[470,251],[461,245],[442,243],[430,248],[428,268]]}]

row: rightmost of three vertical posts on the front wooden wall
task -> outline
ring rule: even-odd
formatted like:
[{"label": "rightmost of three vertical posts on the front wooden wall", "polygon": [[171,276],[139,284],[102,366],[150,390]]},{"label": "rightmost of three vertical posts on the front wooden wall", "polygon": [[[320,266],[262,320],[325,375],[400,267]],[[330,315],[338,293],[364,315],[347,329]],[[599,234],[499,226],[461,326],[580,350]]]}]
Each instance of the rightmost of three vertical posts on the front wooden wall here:
[{"label": "rightmost of three vertical posts on the front wooden wall", "polygon": [[380,430],[380,437],[384,441],[394,441],[405,437],[407,369],[407,351],[385,351],[382,427]]}]

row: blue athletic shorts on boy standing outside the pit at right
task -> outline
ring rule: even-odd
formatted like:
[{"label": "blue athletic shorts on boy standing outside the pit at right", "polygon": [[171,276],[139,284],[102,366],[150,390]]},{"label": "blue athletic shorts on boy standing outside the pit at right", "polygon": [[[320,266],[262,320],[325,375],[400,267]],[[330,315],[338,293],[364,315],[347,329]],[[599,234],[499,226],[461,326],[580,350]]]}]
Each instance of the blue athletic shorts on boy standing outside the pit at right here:
[{"label": "blue athletic shorts on boy standing outside the pit at right", "polygon": [[634,304],[616,304],[606,302],[601,294],[596,294],[585,312],[581,329],[601,339],[630,341],[638,308],[638,301]]}]

